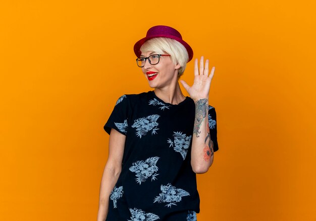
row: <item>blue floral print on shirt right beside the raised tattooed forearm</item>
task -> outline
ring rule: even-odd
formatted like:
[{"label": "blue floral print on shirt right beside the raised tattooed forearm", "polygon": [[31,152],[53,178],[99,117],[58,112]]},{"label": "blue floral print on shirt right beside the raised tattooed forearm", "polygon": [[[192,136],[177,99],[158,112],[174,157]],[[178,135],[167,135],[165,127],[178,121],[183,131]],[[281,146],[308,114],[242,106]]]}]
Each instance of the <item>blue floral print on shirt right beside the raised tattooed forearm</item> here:
[{"label": "blue floral print on shirt right beside the raised tattooed forearm", "polygon": [[173,147],[175,152],[180,153],[184,160],[188,153],[192,136],[187,136],[182,132],[173,132],[173,137],[173,141],[170,138],[167,140],[167,142],[170,144],[169,147]]}]

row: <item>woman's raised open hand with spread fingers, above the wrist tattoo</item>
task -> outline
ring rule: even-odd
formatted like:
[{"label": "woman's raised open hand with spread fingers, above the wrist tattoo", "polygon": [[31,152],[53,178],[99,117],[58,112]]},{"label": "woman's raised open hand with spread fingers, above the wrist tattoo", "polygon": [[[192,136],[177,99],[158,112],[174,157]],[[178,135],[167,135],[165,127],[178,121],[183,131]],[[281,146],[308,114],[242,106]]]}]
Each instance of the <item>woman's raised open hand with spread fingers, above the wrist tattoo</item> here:
[{"label": "woman's raised open hand with spread fingers, above the wrist tattoo", "polygon": [[197,101],[202,98],[208,99],[210,82],[212,82],[215,67],[212,68],[210,74],[208,75],[208,59],[205,61],[204,67],[204,57],[200,59],[200,67],[198,68],[197,58],[194,62],[194,83],[190,87],[185,81],[180,80],[181,84],[185,90],[189,93],[190,97]]}]

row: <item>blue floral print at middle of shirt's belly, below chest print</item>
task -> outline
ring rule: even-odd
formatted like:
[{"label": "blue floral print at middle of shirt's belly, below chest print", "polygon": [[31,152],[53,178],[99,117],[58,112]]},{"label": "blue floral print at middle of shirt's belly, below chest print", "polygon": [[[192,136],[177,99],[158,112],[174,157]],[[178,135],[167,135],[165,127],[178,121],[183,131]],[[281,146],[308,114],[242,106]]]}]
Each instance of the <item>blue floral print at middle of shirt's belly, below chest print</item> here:
[{"label": "blue floral print at middle of shirt's belly, below chest print", "polygon": [[156,172],[158,171],[158,167],[156,166],[159,157],[151,157],[146,161],[136,161],[133,163],[133,166],[129,168],[131,172],[136,173],[136,182],[141,184],[141,182],[145,182],[148,177],[151,176],[151,181],[156,180],[156,176],[159,175]]}]

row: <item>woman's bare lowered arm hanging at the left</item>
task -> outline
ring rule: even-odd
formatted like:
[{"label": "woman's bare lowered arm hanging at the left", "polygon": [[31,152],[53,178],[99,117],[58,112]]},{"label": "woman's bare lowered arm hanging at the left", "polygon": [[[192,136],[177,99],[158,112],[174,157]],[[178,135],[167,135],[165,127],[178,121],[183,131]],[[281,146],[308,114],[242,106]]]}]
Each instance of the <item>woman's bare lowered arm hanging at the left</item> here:
[{"label": "woman's bare lowered arm hanging at the left", "polygon": [[104,167],[99,195],[99,209],[97,221],[104,221],[107,218],[109,209],[109,196],[113,190],[122,169],[126,136],[115,129],[111,129],[109,140],[109,157]]}]

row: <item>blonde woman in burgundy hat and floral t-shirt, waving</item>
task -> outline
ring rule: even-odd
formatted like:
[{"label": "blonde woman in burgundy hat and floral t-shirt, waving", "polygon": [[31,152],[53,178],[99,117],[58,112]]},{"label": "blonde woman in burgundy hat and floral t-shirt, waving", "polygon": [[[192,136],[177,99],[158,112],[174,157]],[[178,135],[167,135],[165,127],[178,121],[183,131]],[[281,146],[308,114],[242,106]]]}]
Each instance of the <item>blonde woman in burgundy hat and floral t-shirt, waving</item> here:
[{"label": "blonde woman in burgundy hat and floral t-shirt, waving", "polygon": [[[178,80],[193,57],[180,33],[154,26],[134,45],[137,65],[153,91],[123,95],[104,129],[110,134],[98,219],[196,220],[196,173],[218,150],[216,112],[208,105],[208,60],[195,59],[194,84]],[[106,218],[107,217],[107,218]]]}]

